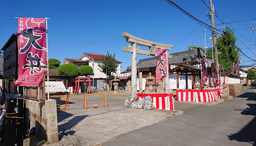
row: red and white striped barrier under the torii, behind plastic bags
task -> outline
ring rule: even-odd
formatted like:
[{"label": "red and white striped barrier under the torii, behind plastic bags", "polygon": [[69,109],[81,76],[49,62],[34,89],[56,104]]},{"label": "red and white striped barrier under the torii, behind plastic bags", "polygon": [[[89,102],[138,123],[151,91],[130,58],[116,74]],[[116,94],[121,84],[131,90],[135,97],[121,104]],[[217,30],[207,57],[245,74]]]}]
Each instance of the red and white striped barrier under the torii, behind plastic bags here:
[{"label": "red and white striped barrier under the torii, behind plastic bags", "polygon": [[152,103],[159,110],[174,110],[173,94],[136,94],[138,98],[152,97]]}]

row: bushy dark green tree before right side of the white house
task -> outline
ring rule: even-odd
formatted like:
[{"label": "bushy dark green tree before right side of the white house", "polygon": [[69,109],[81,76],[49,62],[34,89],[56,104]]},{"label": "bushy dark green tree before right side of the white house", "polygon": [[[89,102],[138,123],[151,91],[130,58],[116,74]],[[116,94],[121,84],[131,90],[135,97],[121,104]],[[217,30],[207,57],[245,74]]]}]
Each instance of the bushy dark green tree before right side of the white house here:
[{"label": "bushy dark green tree before right side of the white house", "polygon": [[111,72],[115,73],[116,68],[118,67],[115,60],[115,54],[112,55],[112,54],[109,54],[108,52],[105,58],[102,57],[102,61],[98,66],[100,67],[100,71],[102,73],[107,73],[109,79],[113,80],[114,77],[111,75]]}]

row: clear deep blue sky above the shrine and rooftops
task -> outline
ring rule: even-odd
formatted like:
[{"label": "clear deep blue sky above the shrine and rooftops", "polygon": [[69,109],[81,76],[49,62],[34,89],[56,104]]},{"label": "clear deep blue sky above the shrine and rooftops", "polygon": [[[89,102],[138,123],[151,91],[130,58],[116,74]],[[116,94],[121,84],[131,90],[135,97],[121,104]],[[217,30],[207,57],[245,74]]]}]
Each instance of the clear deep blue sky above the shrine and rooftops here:
[{"label": "clear deep blue sky above the shrine and rooftops", "polygon": [[[208,6],[209,1],[203,0]],[[44,3],[42,3],[44,2]],[[206,8],[201,0],[173,0],[184,10],[199,20],[211,25],[205,16]],[[218,17],[225,20],[228,27],[234,29],[239,40],[236,45],[242,51],[256,59],[256,32],[248,33],[248,28],[256,27],[256,1],[213,0]],[[166,1],[0,1],[0,47],[17,33],[17,18],[14,17],[49,17],[48,43],[49,58],[61,62],[65,58],[78,59],[84,52],[95,54],[107,52],[115,54],[122,62],[121,71],[131,66],[131,53],[123,52],[123,47],[130,45],[122,38],[122,32],[157,43],[172,44],[170,54],[188,50],[188,45],[204,47],[204,27],[184,15]],[[215,17],[216,27],[222,26]],[[242,22],[239,22],[242,21]],[[232,23],[230,23],[232,22]],[[224,28],[220,28],[224,30]],[[207,47],[211,47],[211,31],[206,29]],[[148,49],[140,47],[141,49]],[[138,55],[139,59],[149,56]],[[241,65],[251,65],[241,55]]]}]

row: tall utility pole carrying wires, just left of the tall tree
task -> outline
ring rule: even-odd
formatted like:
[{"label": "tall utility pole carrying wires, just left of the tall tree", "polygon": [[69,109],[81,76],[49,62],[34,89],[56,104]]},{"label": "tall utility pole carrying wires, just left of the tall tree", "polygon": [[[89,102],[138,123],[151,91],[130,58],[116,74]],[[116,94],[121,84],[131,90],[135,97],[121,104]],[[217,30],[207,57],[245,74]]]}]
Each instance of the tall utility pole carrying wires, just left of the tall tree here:
[{"label": "tall utility pole carrying wires, just left of the tall tree", "polygon": [[[211,8],[211,20],[212,20],[212,40],[213,40],[213,48],[214,48],[214,57],[215,57],[215,68],[217,72],[217,77],[219,78],[219,57],[218,57],[218,50],[217,50],[217,43],[216,43],[216,32],[215,32],[215,25],[214,25],[214,10],[212,6],[212,0],[209,0],[210,8]],[[219,82],[219,80],[218,80]]]}]

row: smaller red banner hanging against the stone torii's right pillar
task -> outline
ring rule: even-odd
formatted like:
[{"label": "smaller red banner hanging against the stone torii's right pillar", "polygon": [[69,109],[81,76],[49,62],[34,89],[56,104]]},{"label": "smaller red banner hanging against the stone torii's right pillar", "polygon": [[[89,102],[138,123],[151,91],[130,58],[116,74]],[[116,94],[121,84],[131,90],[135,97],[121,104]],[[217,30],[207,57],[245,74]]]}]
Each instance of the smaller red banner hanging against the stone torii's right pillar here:
[{"label": "smaller red banner hanging against the stone torii's right pillar", "polygon": [[167,75],[167,50],[157,48],[156,83],[159,83]]}]

